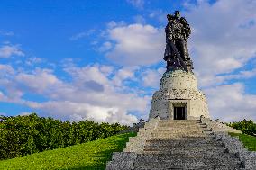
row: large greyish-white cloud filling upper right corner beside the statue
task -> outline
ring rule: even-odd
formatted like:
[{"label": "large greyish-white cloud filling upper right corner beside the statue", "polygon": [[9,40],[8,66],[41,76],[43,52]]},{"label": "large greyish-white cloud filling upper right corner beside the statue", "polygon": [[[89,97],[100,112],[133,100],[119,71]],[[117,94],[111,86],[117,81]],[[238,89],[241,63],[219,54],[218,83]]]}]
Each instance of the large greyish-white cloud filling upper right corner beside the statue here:
[{"label": "large greyish-white cloud filling upper right corner beside the statue", "polygon": [[200,76],[231,73],[256,57],[256,26],[242,27],[256,21],[255,8],[251,0],[198,1],[188,7],[190,53]]}]

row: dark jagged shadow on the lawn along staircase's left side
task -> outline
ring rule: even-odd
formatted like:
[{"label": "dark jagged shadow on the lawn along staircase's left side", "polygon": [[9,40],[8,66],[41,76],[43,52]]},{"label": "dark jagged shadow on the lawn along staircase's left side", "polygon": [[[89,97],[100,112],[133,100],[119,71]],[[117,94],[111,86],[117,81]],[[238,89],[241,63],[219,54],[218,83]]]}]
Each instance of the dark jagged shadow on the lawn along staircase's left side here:
[{"label": "dark jagged shadow on the lawn along staircase's left side", "polygon": [[107,148],[104,151],[97,152],[95,155],[93,155],[92,157],[96,157],[98,160],[95,165],[74,166],[74,167],[69,167],[67,169],[69,170],[80,170],[80,169],[105,170],[106,162],[111,160],[112,154],[114,152],[122,152],[122,149],[125,147],[126,142],[128,142],[129,137],[133,137],[133,136],[136,136],[136,133],[119,135],[117,140],[108,141],[108,144],[110,146],[113,146],[113,148]]}]

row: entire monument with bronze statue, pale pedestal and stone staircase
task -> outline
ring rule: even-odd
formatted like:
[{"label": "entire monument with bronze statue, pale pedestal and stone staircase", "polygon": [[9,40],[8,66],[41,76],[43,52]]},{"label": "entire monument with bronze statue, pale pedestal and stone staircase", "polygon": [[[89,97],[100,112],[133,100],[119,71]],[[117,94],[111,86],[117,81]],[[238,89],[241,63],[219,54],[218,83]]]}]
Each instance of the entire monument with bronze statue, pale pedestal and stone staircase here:
[{"label": "entire monument with bronze statue, pale pedestal and stone staircase", "polygon": [[167,18],[167,70],[153,94],[149,121],[123,152],[113,154],[106,170],[256,169],[256,152],[228,134],[242,131],[209,119],[187,50],[189,24],[178,11]]}]

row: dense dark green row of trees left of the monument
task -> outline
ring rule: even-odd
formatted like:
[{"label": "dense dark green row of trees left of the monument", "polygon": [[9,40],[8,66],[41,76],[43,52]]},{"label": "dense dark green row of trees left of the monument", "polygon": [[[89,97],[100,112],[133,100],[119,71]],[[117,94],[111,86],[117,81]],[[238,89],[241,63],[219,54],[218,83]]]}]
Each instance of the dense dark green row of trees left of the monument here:
[{"label": "dense dark green row of trees left of the monument", "polygon": [[36,113],[0,116],[0,160],[106,138],[127,128],[119,123],[59,121]]}]

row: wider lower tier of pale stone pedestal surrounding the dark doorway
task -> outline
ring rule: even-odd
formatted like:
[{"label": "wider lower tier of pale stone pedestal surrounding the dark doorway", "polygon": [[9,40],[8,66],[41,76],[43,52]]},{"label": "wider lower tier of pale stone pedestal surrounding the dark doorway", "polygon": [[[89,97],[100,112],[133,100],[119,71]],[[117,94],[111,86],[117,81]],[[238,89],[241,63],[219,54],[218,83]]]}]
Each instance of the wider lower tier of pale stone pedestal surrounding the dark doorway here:
[{"label": "wider lower tier of pale stone pedestal surrounding the dark doorway", "polygon": [[150,119],[156,116],[160,116],[160,119],[171,119],[173,105],[184,102],[187,104],[187,119],[199,119],[201,115],[210,117],[205,94],[191,89],[169,89],[153,94]]}]

